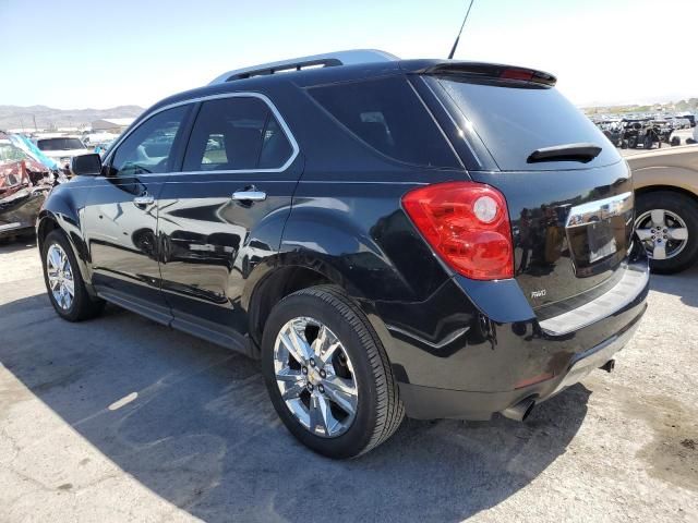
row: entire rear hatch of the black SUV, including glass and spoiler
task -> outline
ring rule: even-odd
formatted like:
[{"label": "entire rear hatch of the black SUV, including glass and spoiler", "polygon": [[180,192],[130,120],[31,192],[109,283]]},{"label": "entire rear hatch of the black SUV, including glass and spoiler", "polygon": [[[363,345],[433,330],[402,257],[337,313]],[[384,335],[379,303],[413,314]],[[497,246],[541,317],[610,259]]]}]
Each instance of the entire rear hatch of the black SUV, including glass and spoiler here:
[{"label": "entire rear hatch of the black SUV, including glass and spoiler", "polygon": [[468,64],[424,78],[465,134],[471,178],[507,199],[515,278],[539,318],[607,291],[630,245],[633,188],[603,133],[545,73]]}]

